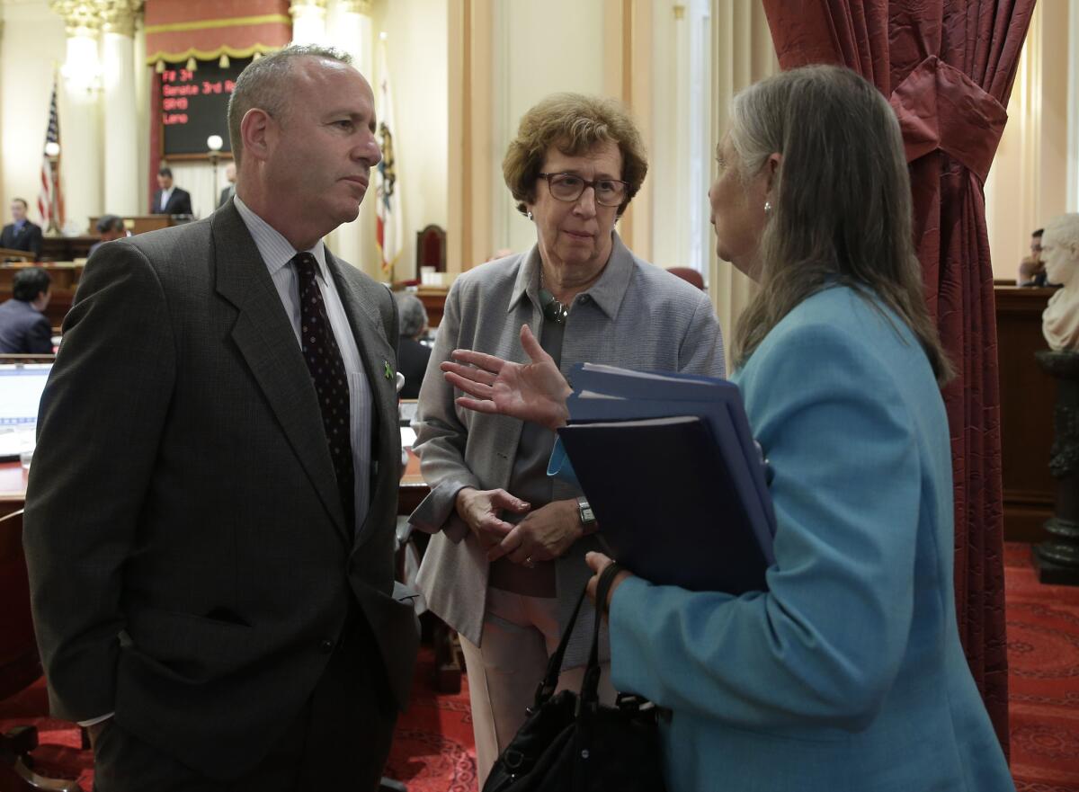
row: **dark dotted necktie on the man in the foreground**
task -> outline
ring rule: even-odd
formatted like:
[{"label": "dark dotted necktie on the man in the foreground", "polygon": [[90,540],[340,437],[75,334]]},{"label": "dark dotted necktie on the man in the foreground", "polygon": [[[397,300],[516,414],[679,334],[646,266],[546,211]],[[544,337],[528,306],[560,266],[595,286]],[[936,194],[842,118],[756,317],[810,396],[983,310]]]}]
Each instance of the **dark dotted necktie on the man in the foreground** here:
[{"label": "dark dotted necktie on the man in the foreground", "polygon": [[330,446],[338,491],[344,507],[345,524],[355,530],[356,474],[352,463],[351,423],[349,421],[349,378],[344,370],[341,350],[333,337],[326,303],[318,288],[315,257],[299,252],[292,257],[300,283],[300,339],[303,359],[311,372],[311,381],[318,394],[323,411],[323,428]]}]

